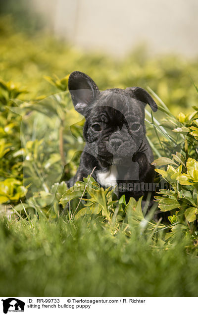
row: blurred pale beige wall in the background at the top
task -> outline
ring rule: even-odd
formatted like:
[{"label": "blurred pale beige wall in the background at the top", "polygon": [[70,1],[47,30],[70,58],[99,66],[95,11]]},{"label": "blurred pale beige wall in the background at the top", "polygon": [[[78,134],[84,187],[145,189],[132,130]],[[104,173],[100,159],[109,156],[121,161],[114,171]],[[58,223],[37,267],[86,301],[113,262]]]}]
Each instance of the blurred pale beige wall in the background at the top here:
[{"label": "blurred pale beige wall in the background at the top", "polygon": [[122,56],[147,43],[151,53],[198,54],[198,0],[31,0],[28,5],[43,15],[47,28],[77,47]]}]

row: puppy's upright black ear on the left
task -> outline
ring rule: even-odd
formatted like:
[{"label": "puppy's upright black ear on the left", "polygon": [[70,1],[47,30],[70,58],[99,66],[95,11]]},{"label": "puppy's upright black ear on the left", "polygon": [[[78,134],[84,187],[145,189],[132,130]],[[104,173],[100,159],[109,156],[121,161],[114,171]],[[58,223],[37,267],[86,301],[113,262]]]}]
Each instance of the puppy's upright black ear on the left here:
[{"label": "puppy's upright black ear on the left", "polygon": [[68,88],[75,109],[83,115],[99,93],[96,83],[87,74],[79,71],[70,74]]}]

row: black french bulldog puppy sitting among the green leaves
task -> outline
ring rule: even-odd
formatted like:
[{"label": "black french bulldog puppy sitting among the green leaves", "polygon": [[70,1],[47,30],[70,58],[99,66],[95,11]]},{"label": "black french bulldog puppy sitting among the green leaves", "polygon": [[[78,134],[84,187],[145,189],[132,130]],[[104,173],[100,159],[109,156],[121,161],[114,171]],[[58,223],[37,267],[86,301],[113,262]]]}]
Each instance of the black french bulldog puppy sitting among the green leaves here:
[{"label": "black french bulldog puppy sitting among the green leaves", "polygon": [[68,187],[82,181],[96,167],[92,177],[100,186],[116,185],[118,197],[125,194],[126,201],[141,196],[146,200],[154,166],[150,164],[153,154],[146,138],[145,105],[156,111],[154,100],[139,87],[99,91],[95,82],[79,71],[70,74],[68,88],[75,109],[86,118],[86,145]]}]

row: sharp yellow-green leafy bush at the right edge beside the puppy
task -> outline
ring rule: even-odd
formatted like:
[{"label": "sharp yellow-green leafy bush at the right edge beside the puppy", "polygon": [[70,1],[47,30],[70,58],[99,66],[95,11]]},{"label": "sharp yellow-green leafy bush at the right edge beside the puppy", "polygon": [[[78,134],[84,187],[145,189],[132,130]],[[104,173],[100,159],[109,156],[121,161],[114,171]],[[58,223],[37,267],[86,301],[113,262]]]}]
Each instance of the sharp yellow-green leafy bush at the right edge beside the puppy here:
[{"label": "sharp yellow-green leafy bush at the right edge beside the puppy", "polygon": [[[180,222],[188,226],[195,243],[197,242],[197,214],[198,214],[198,156],[197,125],[198,108],[192,114],[180,113],[179,127],[173,131],[184,136],[184,148],[181,153],[172,155],[173,159],[159,157],[154,161],[156,165],[167,165],[166,169],[155,169],[170,188],[161,190],[161,197],[156,197],[161,211],[174,210],[169,216],[171,223]],[[172,125],[174,127],[174,125]]]}]

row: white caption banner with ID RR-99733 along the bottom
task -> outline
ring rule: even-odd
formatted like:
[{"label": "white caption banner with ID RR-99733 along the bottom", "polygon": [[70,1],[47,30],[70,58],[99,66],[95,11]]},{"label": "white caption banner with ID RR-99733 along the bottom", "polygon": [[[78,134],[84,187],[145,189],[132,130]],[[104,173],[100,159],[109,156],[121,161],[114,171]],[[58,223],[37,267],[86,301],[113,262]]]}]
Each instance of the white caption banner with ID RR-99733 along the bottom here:
[{"label": "white caption banner with ID RR-99733 along the bottom", "polygon": [[193,314],[198,298],[0,298],[0,314]]}]

